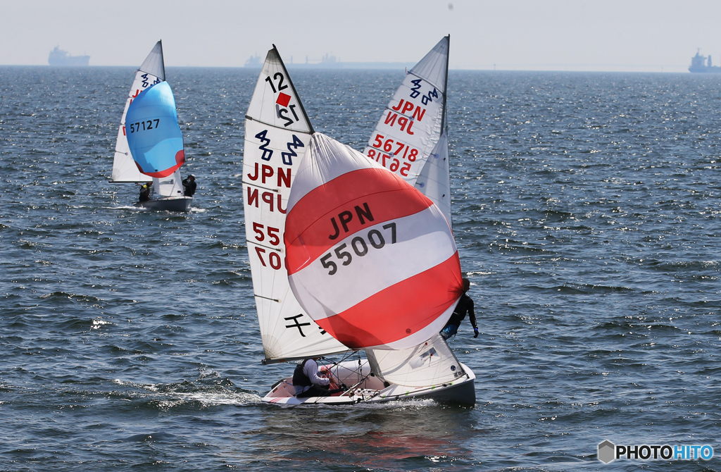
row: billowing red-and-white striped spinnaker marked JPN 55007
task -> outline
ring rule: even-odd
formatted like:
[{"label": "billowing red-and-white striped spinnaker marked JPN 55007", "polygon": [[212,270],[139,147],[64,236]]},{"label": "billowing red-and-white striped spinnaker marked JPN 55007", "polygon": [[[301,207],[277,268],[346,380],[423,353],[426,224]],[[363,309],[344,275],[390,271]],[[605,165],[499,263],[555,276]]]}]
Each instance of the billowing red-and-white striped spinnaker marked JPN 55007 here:
[{"label": "billowing red-and-white striped spinnaker marked JPN 55007", "polygon": [[338,341],[407,349],[443,328],[461,296],[461,267],[446,218],[423,193],[316,133],[287,211],[293,294]]}]

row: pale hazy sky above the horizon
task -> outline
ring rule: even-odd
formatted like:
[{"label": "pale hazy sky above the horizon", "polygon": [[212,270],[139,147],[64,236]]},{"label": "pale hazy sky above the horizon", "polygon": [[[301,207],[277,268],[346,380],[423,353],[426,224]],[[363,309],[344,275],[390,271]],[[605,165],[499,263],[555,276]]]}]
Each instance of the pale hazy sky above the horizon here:
[{"label": "pale hazy sky above the horizon", "polygon": [[451,34],[453,69],[686,71],[721,65],[719,0],[0,0],[0,64],[243,66],[275,43],[286,62],[416,62]]}]

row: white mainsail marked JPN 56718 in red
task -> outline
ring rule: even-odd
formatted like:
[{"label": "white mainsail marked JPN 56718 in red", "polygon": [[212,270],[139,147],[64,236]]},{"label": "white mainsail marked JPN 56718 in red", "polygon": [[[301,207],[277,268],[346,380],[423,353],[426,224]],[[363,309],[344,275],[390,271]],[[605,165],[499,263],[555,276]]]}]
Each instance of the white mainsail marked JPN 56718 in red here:
[{"label": "white mainsail marked JPN 56718 in red", "polygon": [[[436,149],[436,145],[445,126],[449,43],[449,36],[441,39],[408,72],[363,150],[363,154],[401,175],[441,209],[444,206],[441,195],[446,195],[450,205],[448,190],[436,185],[417,185],[417,181],[428,157],[443,154],[443,149]],[[445,146],[447,156],[447,141]],[[443,214],[448,218],[450,212],[443,210]]]}]

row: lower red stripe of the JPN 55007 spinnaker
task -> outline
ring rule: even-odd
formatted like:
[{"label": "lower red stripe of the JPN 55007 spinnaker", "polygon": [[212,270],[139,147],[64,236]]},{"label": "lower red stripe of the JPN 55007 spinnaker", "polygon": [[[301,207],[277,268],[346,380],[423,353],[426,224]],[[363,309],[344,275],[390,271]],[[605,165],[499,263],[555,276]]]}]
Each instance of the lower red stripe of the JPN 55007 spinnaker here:
[{"label": "lower red stripe of the JPN 55007 spinnaker", "polygon": [[433,323],[461,294],[461,261],[456,251],[438,266],[381,290],[342,313],[316,320],[316,323],[352,349],[382,346]]}]

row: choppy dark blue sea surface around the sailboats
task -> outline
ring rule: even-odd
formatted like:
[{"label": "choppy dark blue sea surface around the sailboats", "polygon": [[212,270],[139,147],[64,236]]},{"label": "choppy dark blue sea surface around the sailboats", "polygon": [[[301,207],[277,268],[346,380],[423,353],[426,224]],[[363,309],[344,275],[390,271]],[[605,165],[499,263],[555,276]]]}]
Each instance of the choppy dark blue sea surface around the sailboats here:
[{"label": "choppy dark blue sea surface around the sailboats", "polygon": [[[131,68],[0,67],[0,470],[721,470],[721,76],[451,71],[474,408],[278,408],[244,243],[258,71],[168,68],[198,193],[108,183]],[[363,145],[403,71],[290,71]],[[598,443],[710,445],[608,465]]]}]

